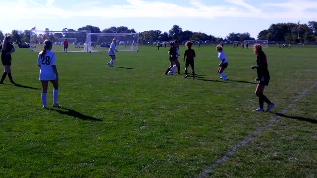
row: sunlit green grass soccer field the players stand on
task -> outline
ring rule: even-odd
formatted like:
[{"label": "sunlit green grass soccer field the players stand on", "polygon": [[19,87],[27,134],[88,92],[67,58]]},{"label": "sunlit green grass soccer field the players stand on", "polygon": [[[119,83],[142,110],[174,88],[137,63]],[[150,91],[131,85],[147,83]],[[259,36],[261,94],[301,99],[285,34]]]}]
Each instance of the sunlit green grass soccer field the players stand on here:
[{"label": "sunlit green grass soccer field the players stand on", "polygon": [[42,109],[38,53],[16,49],[16,85],[0,85],[0,177],[199,177],[277,118],[207,176],[316,178],[317,47],[264,48],[275,107],[263,113],[252,49],[224,46],[229,81],[215,46],[194,49],[196,79],[164,75],[168,48],[118,52],[113,68],[107,51],[56,52],[61,109],[52,85]]}]

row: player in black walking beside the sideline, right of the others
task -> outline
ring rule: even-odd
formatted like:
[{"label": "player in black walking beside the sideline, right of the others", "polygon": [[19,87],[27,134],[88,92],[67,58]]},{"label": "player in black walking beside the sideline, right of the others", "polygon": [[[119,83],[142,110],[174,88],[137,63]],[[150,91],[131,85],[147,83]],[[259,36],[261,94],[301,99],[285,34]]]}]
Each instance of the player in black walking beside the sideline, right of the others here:
[{"label": "player in black walking beside the sideline, right of the others", "polygon": [[267,103],[267,108],[265,111],[269,111],[274,107],[274,104],[268,100],[268,98],[263,94],[264,87],[268,86],[269,82],[269,73],[267,69],[267,59],[266,55],[262,51],[262,46],[260,44],[256,44],[253,46],[254,54],[257,56],[257,66],[251,66],[251,69],[257,69],[258,77],[256,81],[259,82],[255,94],[259,97],[260,107],[253,111],[264,111],[263,105],[264,102]]}]

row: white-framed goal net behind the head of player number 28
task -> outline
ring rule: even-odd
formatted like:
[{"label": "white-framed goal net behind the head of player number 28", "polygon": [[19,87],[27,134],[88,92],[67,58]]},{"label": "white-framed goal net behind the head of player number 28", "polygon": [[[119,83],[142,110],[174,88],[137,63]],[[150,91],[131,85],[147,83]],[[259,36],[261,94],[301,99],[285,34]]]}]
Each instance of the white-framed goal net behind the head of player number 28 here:
[{"label": "white-framed goal net behind the head of player number 28", "polygon": [[[52,51],[63,51],[63,42],[67,39],[67,52],[89,52],[90,30],[82,31],[34,31],[30,32],[30,50],[42,51],[43,42],[53,43]],[[88,44],[88,45],[87,45]],[[87,48],[88,46],[88,48]]]}]

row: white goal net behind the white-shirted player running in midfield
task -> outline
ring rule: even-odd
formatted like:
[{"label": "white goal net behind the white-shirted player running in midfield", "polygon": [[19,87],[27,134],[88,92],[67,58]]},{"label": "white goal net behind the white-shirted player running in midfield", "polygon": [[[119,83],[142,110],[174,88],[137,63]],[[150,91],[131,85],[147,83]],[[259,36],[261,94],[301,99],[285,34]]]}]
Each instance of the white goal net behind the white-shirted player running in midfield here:
[{"label": "white goal net behind the white-shirted player running in midfield", "polygon": [[[107,51],[113,39],[117,39],[116,49],[118,51],[138,51],[138,33],[91,33],[91,45],[87,51]],[[87,46],[85,46],[86,49]]]}]

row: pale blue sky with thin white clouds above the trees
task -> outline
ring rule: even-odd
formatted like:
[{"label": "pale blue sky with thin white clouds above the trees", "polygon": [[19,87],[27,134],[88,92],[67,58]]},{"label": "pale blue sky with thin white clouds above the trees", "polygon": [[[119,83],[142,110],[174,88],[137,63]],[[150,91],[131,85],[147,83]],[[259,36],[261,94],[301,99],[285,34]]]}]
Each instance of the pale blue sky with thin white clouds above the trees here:
[{"label": "pale blue sky with thin white clouds above the trees", "polygon": [[4,14],[3,34],[86,25],[168,32],[176,24],[215,37],[249,32],[257,38],[272,23],[317,21],[317,0],[1,0]]}]

